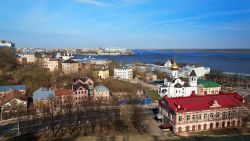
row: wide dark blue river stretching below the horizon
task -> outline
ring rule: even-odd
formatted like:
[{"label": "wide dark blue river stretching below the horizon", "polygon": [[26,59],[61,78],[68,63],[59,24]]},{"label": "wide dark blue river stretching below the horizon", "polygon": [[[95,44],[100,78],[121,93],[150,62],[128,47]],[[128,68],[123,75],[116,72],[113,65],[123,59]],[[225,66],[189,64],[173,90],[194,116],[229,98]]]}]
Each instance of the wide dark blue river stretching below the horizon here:
[{"label": "wide dark blue river stretching below the horizon", "polygon": [[[250,74],[250,54],[232,52],[206,52],[206,51],[158,51],[133,50],[133,56],[92,56],[96,59],[109,59],[119,62],[155,63],[176,59],[177,63],[200,64],[212,69],[225,72]],[[83,59],[86,56],[76,56]]]}]

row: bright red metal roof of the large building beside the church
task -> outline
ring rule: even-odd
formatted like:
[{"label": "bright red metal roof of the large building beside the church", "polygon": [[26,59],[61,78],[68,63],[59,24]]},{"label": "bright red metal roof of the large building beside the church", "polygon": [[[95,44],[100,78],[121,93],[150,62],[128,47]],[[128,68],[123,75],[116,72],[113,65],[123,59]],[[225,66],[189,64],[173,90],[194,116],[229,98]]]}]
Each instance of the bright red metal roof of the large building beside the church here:
[{"label": "bright red metal roof of the large building beside the church", "polygon": [[238,93],[223,93],[218,95],[206,95],[197,96],[192,95],[189,97],[176,97],[176,98],[164,98],[159,102],[160,105],[171,108],[175,112],[186,112],[186,111],[199,111],[209,110],[212,108],[230,108],[239,107],[244,103],[244,99]]}]

